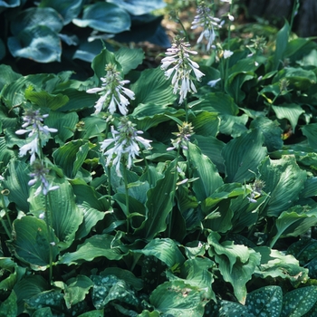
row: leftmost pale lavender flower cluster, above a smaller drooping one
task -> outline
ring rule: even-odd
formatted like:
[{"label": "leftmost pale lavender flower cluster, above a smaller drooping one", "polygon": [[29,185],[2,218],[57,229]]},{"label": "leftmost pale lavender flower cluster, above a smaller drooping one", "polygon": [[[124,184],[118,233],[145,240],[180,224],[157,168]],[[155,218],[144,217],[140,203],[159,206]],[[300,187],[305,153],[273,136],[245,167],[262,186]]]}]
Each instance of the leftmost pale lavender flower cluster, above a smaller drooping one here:
[{"label": "leftmost pale lavender flower cluster, above a smaller drooping one", "polygon": [[56,129],[49,128],[43,125],[43,120],[48,117],[48,114],[41,114],[40,110],[28,109],[25,110],[21,130],[15,131],[18,135],[28,133],[26,143],[20,148],[19,156],[24,157],[26,153],[31,155],[30,163],[33,164],[36,159],[35,154],[41,157],[41,145],[44,145],[50,138],[50,133],[57,132]]}]

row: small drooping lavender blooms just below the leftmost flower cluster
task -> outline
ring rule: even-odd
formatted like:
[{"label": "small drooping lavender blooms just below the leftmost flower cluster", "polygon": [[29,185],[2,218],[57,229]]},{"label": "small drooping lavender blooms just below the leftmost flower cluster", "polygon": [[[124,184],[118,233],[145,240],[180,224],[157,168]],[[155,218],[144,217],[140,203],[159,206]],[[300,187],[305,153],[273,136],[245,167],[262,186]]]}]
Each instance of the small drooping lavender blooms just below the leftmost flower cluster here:
[{"label": "small drooping lavender blooms just below the leftmost flower cluster", "polygon": [[29,186],[33,186],[34,184],[36,184],[37,182],[40,182],[41,185],[36,189],[34,196],[37,196],[41,193],[43,193],[44,196],[46,196],[48,194],[49,191],[58,189],[58,186],[51,186],[47,176],[49,173],[49,169],[44,167],[43,163],[40,160],[35,160],[33,165],[33,173],[30,174],[31,179],[28,182]]}]

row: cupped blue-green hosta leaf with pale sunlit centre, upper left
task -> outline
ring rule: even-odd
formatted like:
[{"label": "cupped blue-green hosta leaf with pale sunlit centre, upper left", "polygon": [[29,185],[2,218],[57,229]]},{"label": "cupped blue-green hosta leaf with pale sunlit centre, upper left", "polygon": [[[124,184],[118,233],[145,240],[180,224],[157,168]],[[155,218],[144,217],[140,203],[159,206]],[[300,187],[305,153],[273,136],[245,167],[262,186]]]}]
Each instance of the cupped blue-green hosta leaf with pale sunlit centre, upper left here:
[{"label": "cupped blue-green hosta leaf with pale sunlit centre, upper left", "polygon": [[46,25],[34,25],[8,38],[8,48],[14,57],[24,57],[36,62],[60,62],[61,40]]}]

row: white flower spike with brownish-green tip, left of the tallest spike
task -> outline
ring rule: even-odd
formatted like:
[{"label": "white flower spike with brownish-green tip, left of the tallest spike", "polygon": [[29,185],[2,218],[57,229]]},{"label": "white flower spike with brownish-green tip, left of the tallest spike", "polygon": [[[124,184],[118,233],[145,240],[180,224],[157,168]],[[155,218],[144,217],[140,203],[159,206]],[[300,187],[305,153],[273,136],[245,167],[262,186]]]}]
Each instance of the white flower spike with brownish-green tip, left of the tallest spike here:
[{"label": "white flower spike with brownish-green tip, left of the tallest spike", "polygon": [[120,72],[117,72],[116,66],[113,64],[106,66],[106,72],[106,76],[101,77],[102,87],[91,88],[86,91],[88,93],[100,92],[101,98],[95,104],[95,113],[101,112],[103,108],[108,108],[110,114],[113,114],[118,108],[120,113],[125,116],[128,113],[127,106],[130,103],[128,98],[134,100],[134,92],[123,87],[130,81],[123,81]]}]

